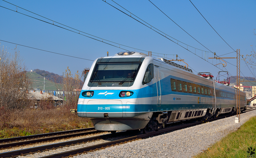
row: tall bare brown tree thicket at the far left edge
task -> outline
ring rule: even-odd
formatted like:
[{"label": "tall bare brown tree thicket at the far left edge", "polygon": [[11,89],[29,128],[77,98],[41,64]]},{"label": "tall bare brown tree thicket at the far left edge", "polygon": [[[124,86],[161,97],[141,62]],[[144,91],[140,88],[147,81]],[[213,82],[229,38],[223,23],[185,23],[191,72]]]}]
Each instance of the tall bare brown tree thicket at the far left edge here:
[{"label": "tall bare brown tree thicket at the far left edge", "polygon": [[18,109],[29,104],[30,81],[17,46],[11,53],[0,47],[0,108]]}]

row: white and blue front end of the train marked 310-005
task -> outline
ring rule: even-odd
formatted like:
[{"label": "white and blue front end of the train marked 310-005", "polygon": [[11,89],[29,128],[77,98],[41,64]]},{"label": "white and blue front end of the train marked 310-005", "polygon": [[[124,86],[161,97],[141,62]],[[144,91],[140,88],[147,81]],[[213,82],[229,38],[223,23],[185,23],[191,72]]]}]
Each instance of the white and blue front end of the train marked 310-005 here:
[{"label": "white and blue front end of the train marked 310-005", "polygon": [[79,96],[78,116],[91,119],[97,130],[143,129],[152,116],[152,112],[148,112],[151,105],[144,112],[144,106],[138,101],[137,93],[142,92],[141,85],[149,62],[143,63],[143,60],[142,56],[98,59]]}]

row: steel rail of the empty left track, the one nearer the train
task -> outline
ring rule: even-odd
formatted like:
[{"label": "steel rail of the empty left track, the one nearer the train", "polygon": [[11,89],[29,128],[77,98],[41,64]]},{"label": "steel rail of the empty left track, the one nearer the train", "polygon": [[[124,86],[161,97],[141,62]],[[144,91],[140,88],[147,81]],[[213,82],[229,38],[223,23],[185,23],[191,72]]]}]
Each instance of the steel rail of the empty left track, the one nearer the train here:
[{"label": "steel rail of the empty left track, the one nearer the train", "polygon": [[28,145],[28,144],[34,144],[34,143],[39,143],[39,142],[45,142],[45,141],[54,141],[54,140],[58,140],[58,139],[65,139],[65,138],[83,136],[86,134],[93,134],[93,133],[100,133],[100,132],[104,132],[104,131],[93,130],[93,131],[86,131],[86,132],[81,132],[81,133],[72,133],[72,134],[66,133],[66,135],[60,135],[60,136],[54,136],[54,137],[45,137],[45,138],[39,138],[39,139],[35,138],[35,139],[31,139],[31,140],[26,140],[26,141],[4,143],[4,144],[0,144],[0,149],[6,149],[6,148],[10,148],[10,147],[17,147],[20,145]]}]

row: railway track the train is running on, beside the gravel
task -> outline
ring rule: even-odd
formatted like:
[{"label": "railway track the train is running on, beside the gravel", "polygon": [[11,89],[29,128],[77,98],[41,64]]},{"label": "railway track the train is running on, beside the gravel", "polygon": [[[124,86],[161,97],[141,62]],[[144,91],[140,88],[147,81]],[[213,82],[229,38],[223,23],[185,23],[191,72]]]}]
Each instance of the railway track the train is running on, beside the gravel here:
[{"label": "railway track the train is running on, beside the gravel", "polygon": [[[256,108],[250,107],[250,109],[246,110],[251,111],[255,110]],[[210,119],[209,121],[214,121],[217,119],[222,119],[229,116],[220,116],[215,119]],[[87,153],[99,149],[104,149],[109,146],[114,146],[118,144],[123,144],[129,141],[134,141],[138,139],[147,138],[149,136],[157,135],[164,132],[169,132],[173,130],[178,130],[182,128],[187,128],[195,125],[199,125],[204,123],[205,121],[197,121],[194,123],[186,124],[186,125],[179,125],[176,127],[166,127],[162,130],[150,132],[146,134],[136,133],[135,131],[120,131],[116,132],[115,134],[104,134],[101,136],[89,137],[84,139],[78,139],[73,141],[66,141],[61,143],[49,144],[44,146],[38,146],[34,148],[28,148],[23,150],[16,150],[11,152],[0,153],[0,157],[9,158],[9,157],[69,157],[74,156],[77,154]],[[207,120],[208,122],[208,120]],[[129,136],[130,135],[130,136]],[[127,136],[126,138],[123,138]],[[122,137],[122,138],[120,138]],[[111,140],[115,139],[115,140]]]}]

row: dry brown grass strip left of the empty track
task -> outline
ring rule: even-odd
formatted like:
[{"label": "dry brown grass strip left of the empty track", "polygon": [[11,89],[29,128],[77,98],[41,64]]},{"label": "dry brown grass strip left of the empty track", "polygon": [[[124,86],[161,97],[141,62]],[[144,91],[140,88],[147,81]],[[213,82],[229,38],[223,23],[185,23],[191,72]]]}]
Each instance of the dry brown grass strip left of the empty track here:
[{"label": "dry brown grass strip left of the empty track", "polygon": [[0,109],[0,139],[89,127],[93,127],[89,119],[67,109]]}]

